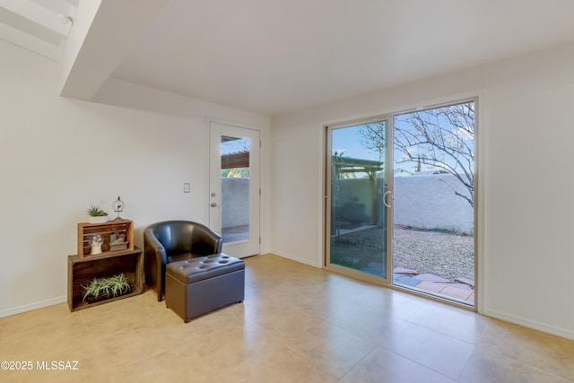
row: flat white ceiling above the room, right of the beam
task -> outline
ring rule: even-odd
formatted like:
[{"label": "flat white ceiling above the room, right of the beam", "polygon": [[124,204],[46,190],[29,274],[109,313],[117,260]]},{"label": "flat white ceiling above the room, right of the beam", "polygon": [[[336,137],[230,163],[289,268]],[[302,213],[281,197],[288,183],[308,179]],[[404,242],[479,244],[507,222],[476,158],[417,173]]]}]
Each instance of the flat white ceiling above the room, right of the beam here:
[{"label": "flat white ceiling above the room, right of the beam", "polygon": [[[109,24],[118,39],[137,8]],[[156,12],[111,76],[267,116],[574,40],[573,0],[170,0]]]}]

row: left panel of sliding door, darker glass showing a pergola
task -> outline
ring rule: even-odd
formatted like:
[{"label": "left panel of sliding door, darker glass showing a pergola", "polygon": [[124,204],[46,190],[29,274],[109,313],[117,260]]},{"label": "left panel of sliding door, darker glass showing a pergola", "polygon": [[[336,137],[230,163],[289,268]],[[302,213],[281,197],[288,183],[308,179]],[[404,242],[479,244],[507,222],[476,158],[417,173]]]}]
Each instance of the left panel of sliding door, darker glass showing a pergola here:
[{"label": "left panel of sliding door, darker glass showing a pergola", "polygon": [[327,133],[327,267],[387,279],[388,120],[331,127]]}]

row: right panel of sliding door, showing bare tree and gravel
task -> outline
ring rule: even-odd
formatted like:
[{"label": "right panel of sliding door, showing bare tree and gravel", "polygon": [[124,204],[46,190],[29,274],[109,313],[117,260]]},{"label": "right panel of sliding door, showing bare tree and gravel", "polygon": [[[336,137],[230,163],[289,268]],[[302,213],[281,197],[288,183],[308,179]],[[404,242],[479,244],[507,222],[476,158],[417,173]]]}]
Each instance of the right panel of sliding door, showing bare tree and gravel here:
[{"label": "right panel of sliding door, showing bare tree and gravel", "polygon": [[474,100],[394,116],[393,284],[474,306]]}]

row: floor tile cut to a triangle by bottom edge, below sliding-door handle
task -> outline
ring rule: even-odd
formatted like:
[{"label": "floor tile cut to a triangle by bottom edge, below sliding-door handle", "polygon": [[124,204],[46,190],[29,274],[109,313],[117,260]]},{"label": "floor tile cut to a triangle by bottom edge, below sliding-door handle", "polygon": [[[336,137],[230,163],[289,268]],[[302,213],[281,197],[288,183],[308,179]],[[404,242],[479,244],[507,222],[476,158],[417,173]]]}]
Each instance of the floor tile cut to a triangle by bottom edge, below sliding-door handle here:
[{"label": "floor tile cut to a triangle by bottom edge, below sliding-door handle", "polygon": [[401,355],[377,347],[359,364],[347,372],[341,382],[455,382],[436,371],[423,367]]}]

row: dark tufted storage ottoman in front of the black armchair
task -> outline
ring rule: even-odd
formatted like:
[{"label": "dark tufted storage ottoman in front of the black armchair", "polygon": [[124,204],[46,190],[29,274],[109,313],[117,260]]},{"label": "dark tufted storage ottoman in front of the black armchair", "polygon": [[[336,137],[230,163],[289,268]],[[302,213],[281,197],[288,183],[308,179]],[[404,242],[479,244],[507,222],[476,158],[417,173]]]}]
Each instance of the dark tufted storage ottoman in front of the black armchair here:
[{"label": "dark tufted storage ottoman in front of the black armchair", "polygon": [[241,302],[245,262],[223,253],[166,265],[165,304],[184,322]]}]

